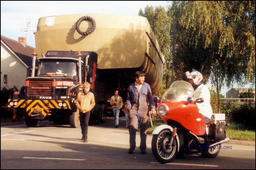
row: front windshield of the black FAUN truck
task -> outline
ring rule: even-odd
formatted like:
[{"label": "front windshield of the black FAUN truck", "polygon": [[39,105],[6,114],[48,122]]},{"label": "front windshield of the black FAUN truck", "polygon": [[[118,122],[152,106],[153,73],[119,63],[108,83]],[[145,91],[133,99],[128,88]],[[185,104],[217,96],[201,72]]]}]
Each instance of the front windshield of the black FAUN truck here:
[{"label": "front windshield of the black FAUN truck", "polygon": [[38,76],[51,75],[51,76],[74,76],[76,75],[77,67],[76,62],[68,61],[42,61],[38,65]]}]

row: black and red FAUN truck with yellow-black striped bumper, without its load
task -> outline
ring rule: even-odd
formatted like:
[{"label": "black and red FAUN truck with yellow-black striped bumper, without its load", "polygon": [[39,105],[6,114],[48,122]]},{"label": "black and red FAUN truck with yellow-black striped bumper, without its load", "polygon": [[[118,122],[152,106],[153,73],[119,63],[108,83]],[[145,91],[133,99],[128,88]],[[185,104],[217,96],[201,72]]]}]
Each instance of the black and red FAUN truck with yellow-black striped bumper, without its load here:
[{"label": "black and red FAUN truck with yellow-black striped bumper, without its load", "polygon": [[[37,76],[27,77],[24,91],[14,95],[9,106],[23,109],[28,127],[36,126],[38,120],[45,118],[55,124],[69,123],[71,127],[79,127],[76,96],[83,89],[83,83],[86,81],[91,83],[90,88],[94,90],[97,54],[80,51],[48,51],[42,56],[38,59]],[[97,112],[101,111],[99,107],[95,109]],[[97,114],[97,116],[101,117],[96,118],[94,123],[100,121],[104,123],[104,115]]]}]

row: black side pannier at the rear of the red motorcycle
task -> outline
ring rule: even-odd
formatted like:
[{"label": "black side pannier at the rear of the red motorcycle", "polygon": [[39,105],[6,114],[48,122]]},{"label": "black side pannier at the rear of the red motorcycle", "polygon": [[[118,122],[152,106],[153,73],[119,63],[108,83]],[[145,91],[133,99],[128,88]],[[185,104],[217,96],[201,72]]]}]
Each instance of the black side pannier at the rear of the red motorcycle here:
[{"label": "black side pannier at the rear of the red motorcycle", "polygon": [[226,138],[226,124],[210,124],[209,138],[222,141]]}]

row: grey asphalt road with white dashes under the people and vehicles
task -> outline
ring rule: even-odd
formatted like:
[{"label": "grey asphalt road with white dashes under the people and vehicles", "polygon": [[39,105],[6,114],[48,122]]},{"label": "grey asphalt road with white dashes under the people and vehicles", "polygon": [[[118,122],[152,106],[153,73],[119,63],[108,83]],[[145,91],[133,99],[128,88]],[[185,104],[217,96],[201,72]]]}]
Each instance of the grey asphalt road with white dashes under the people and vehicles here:
[{"label": "grey asphalt road with white dashes under the people and vehicles", "polygon": [[33,128],[20,122],[8,124],[1,120],[1,169],[255,169],[255,146],[241,144],[222,144],[213,159],[186,154],[185,159],[160,164],[151,152],[152,135],[142,155],[137,133],[135,153],[128,154],[124,117],[119,128],[113,117],[107,117],[105,124],[89,125],[88,143],[81,141],[80,128],[69,125],[49,121]]}]

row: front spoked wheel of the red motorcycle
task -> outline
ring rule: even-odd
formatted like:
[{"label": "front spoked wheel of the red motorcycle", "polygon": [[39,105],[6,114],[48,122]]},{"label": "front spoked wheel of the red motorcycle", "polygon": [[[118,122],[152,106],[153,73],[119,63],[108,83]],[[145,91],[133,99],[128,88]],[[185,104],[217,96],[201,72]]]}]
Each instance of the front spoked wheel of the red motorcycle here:
[{"label": "front spoked wheel of the red motorcycle", "polygon": [[157,135],[153,135],[151,148],[154,157],[160,163],[170,163],[175,159],[178,153],[177,138],[173,139],[173,143],[169,146],[169,137],[172,135],[170,129],[163,129]]}]

